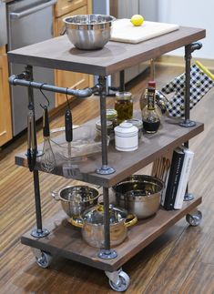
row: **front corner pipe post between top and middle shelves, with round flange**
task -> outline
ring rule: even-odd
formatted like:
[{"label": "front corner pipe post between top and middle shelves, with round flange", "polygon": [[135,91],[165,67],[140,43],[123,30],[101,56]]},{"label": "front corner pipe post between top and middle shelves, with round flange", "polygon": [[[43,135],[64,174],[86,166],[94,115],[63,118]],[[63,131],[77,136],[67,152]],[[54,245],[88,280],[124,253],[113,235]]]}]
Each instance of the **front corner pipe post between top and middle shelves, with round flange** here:
[{"label": "front corner pipe post between top and middle shelves, with round flange", "polygon": [[115,172],[113,167],[107,166],[107,105],[106,105],[106,76],[99,76],[101,85],[100,95],[100,118],[101,118],[101,140],[102,140],[102,167],[97,168],[96,172],[100,175],[109,175]]}]

